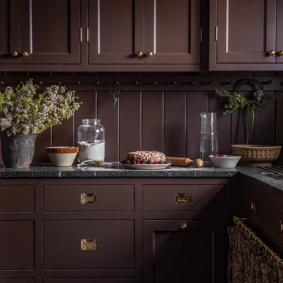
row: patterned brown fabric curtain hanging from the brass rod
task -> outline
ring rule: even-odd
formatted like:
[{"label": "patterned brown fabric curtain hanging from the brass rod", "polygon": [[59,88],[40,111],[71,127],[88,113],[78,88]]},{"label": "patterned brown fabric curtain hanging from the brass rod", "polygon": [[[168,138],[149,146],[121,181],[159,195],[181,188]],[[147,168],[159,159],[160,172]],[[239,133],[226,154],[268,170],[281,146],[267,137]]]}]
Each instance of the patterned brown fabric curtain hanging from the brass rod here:
[{"label": "patterned brown fabric curtain hanging from the brass rod", "polygon": [[237,225],[228,228],[229,283],[283,283],[283,270]]}]

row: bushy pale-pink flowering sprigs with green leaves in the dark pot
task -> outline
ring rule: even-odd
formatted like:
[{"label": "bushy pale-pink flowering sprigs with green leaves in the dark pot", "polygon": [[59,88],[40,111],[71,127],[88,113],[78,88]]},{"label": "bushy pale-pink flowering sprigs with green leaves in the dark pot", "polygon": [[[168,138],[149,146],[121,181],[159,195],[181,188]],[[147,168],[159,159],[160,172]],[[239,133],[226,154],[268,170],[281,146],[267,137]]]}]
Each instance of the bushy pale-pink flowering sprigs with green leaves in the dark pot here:
[{"label": "bushy pale-pink flowering sprigs with green leaves in the dark pot", "polygon": [[74,102],[74,91],[53,85],[34,98],[38,85],[29,79],[15,91],[7,87],[0,92],[0,132],[11,134],[37,134],[46,128],[61,124],[62,119],[70,118],[80,103]]}]

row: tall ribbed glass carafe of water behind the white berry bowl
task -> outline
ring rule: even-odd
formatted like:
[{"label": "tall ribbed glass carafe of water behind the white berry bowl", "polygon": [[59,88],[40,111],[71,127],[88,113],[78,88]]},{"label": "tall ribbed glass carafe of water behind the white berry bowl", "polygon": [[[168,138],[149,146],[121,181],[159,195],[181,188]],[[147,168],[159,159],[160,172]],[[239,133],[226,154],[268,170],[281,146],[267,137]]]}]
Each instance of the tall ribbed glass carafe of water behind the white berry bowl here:
[{"label": "tall ribbed glass carafe of water behind the white berry bowl", "polygon": [[212,165],[209,155],[218,154],[216,113],[200,113],[200,159],[203,165]]}]

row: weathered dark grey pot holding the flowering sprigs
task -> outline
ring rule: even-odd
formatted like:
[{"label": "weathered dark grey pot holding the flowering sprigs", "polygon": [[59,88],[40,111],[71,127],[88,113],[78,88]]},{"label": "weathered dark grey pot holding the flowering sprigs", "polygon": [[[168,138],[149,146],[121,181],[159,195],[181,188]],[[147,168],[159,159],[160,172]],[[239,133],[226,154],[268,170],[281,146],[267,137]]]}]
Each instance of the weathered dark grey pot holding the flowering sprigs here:
[{"label": "weathered dark grey pot holding the flowering sprigs", "polygon": [[35,139],[38,134],[11,134],[0,133],[1,155],[5,167],[29,167],[33,160]]}]

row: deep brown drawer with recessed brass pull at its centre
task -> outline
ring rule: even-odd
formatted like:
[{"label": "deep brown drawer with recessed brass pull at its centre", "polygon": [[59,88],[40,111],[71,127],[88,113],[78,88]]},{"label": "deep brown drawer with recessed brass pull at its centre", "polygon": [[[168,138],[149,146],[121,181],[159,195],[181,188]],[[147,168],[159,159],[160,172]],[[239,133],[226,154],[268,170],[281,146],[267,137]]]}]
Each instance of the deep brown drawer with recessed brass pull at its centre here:
[{"label": "deep brown drawer with recessed brass pull at its centre", "polygon": [[133,269],[134,220],[44,220],[43,268]]}]

